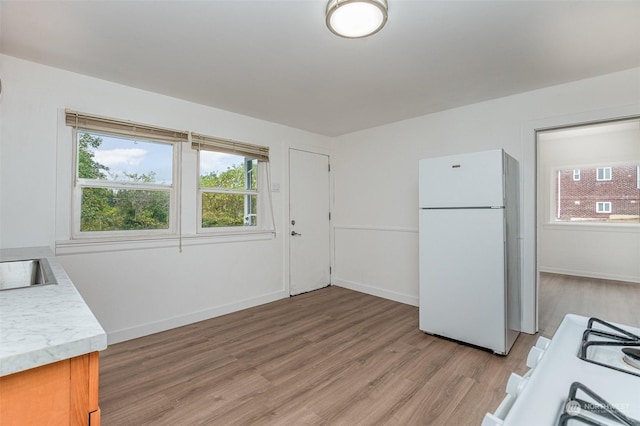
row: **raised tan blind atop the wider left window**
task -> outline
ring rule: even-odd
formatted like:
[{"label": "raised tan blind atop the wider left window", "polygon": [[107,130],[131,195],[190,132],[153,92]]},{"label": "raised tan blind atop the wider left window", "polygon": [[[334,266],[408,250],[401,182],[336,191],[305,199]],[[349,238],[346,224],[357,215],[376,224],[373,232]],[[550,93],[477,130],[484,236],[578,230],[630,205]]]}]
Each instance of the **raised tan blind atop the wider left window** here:
[{"label": "raised tan blind atop the wider left window", "polygon": [[132,121],[89,115],[68,109],[65,110],[65,116],[67,126],[75,127],[76,129],[111,132],[132,138],[151,139],[161,142],[187,142],[189,140],[189,132],[187,131],[165,129]]}]

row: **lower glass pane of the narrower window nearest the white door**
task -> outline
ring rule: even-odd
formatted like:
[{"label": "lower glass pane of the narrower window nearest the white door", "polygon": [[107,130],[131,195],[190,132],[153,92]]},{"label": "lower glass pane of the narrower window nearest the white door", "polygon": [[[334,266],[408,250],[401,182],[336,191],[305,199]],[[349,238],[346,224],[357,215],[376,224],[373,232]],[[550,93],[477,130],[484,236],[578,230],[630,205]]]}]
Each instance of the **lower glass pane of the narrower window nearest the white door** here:
[{"label": "lower glass pane of the narrower window nearest the white door", "polygon": [[256,226],[257,195],[205,192],[202,227]]}]

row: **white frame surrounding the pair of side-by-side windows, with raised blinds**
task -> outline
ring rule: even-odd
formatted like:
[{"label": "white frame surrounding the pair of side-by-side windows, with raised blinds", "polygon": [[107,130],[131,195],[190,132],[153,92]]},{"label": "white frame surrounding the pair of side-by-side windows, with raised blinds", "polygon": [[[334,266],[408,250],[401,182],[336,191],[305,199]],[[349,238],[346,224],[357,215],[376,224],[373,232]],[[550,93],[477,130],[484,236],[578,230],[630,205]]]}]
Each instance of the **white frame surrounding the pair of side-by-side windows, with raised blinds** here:
[{"label": "white frame surrounding the pair of side-by-side windows, with raised blinds", "polygon": [[[273,239],[276,235],[273,201],[271,194],[271,176],[269,147],[250,145],[242,142],[213,137],[200,139],[200,143],[211,145],[214,150],[244,155],[258,160],[258,195],[256,226],[236,226],[228,228],[205,228],[198,226],[201,218],[196,210],[199,203],[199,156],[194,148],[192,136],[202,136],[185,130],[162,128],[139,122],[90,115],[69,109],[59,110],[58,138],[69,143],[59,144],[57,155],[64,170],[58,177],[66,182],[65,188],[57,191],[56,242],[58,254],[79,254],[87,250],[94,253],[118,250],[138,250],[147,248],[170,248],[183,246],[232,243],[239,241],[261,241]],[[88,132],[95,135],[113,135],[131,140],[144,140],[155,143],[172,143],[173,179],[171,185],[139,183],[131,188],[131,182],[111,180],[78,179],[78,133]],[[187,145],[189,143],[190,146]],[[226,151],[225,151],[226,149]],[[186,180],[185,180],[186,179]],[[134,184],[135,185],[135,184]],[[142,186],[144,185],[144,187]],[[114,187],[118,189],[168,190],[169,228],[120,231],[84,231],[80,232],[80,208],[82,188]],[[164,188],[163,188],[164,187]],[[252,190],[249,190],[251,192]],[[244,192],[244,191],[243,191]],[[200,210],[200,209],[198,209]],[[204,231],[204,232],[199,232]]]}]

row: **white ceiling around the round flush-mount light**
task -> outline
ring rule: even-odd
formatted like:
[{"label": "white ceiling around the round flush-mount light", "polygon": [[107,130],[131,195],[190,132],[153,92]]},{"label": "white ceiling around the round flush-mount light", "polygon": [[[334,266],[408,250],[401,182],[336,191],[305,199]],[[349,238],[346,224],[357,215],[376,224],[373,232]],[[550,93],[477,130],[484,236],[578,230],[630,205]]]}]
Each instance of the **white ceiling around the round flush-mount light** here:
[{"label": "white ceiling around the round flush-mount light", "polygon": [[640,1],[0,1],[0,51],[328,136],[640,66]]}]

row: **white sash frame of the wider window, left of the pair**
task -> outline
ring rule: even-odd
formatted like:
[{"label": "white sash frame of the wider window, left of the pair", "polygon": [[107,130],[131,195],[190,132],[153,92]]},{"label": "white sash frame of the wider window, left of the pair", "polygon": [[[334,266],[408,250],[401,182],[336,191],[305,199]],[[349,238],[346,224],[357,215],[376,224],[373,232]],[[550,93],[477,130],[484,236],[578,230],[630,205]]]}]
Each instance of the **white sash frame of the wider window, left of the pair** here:
[{"label": "white sash frame of the wider window, left of the pair", "polygon": [[[149,141],[153,143],[166,143],[172,145],[172,183],[153,184],[153,183],[136,183],[125,181],[108,181],[96,179],[81,179],[78,177],[78,134],[90,133],[97,136],[113,136],[118,138],[134,140],[128,135],[118,134],[117,132],[95,131],[77,127],[73,129],[73,201],[72,201],[72,238],[73,239],[130,239],[141,237],[158,237],[158,236],[174,236],[176,235],[179,209],[177,208],[179,199],[179,142],[157,141],[150,138],[137,138],[137,140]],[[168,228],[164,229],[136,229],[136,230],[111,230],[111,231],[82,231],[81,225],[81,209],[82,209],[82,190],[84,188],[106,188],[106,189],[122,189],[122,190],[151,190],[169,192],[169,221]]]}]

